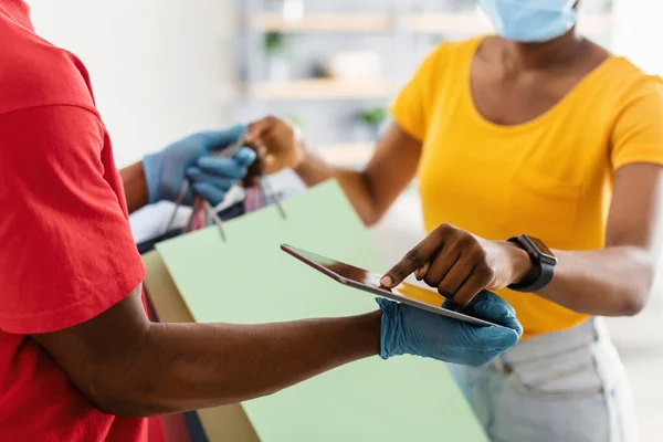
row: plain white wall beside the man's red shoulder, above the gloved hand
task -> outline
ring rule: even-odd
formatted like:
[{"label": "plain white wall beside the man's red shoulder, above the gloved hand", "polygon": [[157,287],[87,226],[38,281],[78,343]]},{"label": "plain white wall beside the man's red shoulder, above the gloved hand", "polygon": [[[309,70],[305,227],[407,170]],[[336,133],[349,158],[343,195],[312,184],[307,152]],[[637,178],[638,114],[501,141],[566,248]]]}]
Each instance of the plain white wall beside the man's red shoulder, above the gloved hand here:
[{"label": "plain white wall beside the man's red shoulder, above the gloved hand", "polygon": [[230,0],[31,0],[38,33],[87,65],[118,166],[229,124]]}]

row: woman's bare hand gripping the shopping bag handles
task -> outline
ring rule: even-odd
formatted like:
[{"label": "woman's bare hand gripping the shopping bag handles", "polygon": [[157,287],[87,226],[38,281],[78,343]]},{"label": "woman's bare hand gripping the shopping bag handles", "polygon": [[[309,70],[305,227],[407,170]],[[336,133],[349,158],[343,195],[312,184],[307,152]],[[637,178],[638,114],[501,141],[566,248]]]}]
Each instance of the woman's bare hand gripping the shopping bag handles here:
[{"label": "woman's bare hand gripping the shopping bag handles", "polygon": [[298,128],[273,116],[250,124],[245,140],[257,152],[265,173],[294,169],[305,157]]}]

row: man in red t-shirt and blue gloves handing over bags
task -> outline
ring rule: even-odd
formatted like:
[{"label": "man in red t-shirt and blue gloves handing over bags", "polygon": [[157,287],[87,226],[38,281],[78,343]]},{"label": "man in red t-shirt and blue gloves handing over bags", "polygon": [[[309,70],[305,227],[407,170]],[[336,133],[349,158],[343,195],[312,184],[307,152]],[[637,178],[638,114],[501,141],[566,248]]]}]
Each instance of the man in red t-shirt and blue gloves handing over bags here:
[{"label": "man in red t-shirt and blue gloves handing over bags", "polygon": [[254,156],[209,154],[241,129],[193,135],[120,175],[85,67],[34,34],[22,0],[0,0],[0,441],[146,441],[146,417],[269,394],[360,358],[481,365],[518,340],[513,311],[487,293],[467,308],[506,327],[386,301],[347,318],[150,323],[127,209],[175,198],[186,176],[222,200]]}]

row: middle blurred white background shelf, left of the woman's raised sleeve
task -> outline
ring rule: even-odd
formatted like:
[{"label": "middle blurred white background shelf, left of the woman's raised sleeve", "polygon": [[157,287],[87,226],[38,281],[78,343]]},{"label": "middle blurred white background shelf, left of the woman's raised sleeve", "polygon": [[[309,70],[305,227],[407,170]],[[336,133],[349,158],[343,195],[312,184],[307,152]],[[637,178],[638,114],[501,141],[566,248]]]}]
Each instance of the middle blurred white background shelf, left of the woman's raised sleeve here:
[{"label": "middle blurred white background shelf, left of the woman's raised sleeve", "polygon": [[256,97],[262,99],[383,98],[391,96],[393,92],[393,83],[385,78],[263,82],[257,83],[254,90]]}]

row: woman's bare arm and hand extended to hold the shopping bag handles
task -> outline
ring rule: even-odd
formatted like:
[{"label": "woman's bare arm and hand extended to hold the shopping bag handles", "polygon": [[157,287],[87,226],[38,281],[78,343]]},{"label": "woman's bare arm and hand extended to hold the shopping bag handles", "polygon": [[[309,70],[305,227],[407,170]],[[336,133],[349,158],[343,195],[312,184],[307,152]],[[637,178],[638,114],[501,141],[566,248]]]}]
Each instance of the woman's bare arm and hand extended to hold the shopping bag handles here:
[{"label": "woman's bare arm and hand extended to hold the shopping bag handles", "polygon": [[317,156],[283,120],[267,117],[249,129],[249,143],[262,150],[267,171],[292,167],[306,186],[335,178],[367,225],[377,223],[414,178],[421,141],[393,123],[364,170],[336,167]]}]

